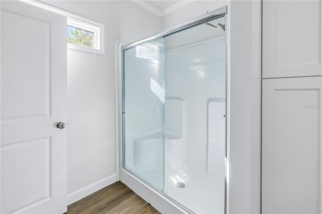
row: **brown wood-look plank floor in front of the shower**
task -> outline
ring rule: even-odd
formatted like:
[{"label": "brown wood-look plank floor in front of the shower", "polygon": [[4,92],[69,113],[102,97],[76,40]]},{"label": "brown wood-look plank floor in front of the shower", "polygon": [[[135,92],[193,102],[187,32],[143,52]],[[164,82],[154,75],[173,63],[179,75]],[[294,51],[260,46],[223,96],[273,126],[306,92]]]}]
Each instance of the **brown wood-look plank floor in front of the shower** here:
[{"label": "brown wood-look plank floor in front of the shower", "polygon": [[129,187],[118,181],[67,207],[72,213],[160,213]]}]

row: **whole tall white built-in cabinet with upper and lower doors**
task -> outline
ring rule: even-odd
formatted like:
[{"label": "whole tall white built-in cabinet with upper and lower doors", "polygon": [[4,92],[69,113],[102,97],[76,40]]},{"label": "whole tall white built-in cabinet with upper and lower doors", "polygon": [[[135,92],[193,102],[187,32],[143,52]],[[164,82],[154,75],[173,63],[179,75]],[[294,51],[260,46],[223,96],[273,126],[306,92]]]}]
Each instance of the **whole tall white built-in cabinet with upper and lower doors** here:
[{"label": "whole tall white built-in cabinet with upper and lower doors", "polygon": [[321,1],[263,1],[262,213],[321,213]]}]

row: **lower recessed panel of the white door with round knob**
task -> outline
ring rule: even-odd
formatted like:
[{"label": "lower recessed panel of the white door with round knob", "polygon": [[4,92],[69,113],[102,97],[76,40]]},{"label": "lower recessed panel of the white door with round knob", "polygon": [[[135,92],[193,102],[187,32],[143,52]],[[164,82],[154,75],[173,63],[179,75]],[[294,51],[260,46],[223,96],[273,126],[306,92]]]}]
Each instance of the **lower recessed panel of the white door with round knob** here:
[{"label": "lower recessed panel of the white door with round knob", "polygon": [[5,212],[50,199],[50,141],[47,137],[2,147],[2,191],[6,193],[2,205],[8,207]]}]

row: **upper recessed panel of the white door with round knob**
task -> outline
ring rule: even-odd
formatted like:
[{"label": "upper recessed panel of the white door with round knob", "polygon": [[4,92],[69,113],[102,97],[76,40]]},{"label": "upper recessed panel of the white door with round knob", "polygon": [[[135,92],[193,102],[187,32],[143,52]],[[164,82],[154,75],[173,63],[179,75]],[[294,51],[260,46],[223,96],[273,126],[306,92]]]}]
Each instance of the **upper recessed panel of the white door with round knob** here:
[{"label": "upper recessed panel of the white door with round knob", "polygon": [[3,76],[2,118],[49,116],[50,23],[4,10],[2,19],[2,63],[16,71]]}]

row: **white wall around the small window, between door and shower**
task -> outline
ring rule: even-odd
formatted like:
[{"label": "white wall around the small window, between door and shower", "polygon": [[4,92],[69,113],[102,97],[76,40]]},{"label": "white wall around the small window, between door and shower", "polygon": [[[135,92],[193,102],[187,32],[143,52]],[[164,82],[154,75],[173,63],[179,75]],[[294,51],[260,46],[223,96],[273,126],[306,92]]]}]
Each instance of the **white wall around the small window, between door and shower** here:
[{"label": "white wall around the small window, between door and shower", "polygon": [[160,18],[130,1],[44,1],[105,24],[105,54],[67,51],[69,203],[116,181],[115,41],[160,30]]}]

